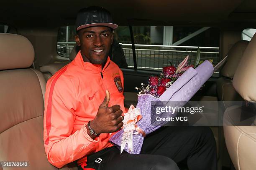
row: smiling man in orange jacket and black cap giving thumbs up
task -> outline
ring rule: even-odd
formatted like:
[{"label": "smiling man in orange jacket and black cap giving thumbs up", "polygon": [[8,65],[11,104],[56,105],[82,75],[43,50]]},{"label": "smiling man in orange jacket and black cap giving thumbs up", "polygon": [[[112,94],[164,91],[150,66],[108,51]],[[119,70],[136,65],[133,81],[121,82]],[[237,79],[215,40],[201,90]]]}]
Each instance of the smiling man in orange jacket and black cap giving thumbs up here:
[{"label": "smiling man in orange jacket and black cap giving thumbs up", "polygon": [[125,112],[123,73],[108,57],[118,25],[104,8],[87,7],[79,11],[76,27],[81,50],[46,85],[49,162],[61,168],[78,160],[84,170],[177,170],[175,162],[187,159],[190,169],[216,169],[215,141],[207,128],[161,128],[145,138],[142,154],[120,155],[109,142]]}]

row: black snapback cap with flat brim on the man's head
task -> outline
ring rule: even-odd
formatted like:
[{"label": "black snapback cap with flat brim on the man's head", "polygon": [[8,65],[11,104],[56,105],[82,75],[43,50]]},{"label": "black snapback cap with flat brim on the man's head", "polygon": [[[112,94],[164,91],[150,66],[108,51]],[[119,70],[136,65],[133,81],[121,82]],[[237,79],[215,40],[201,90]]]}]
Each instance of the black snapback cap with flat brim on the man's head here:
[{"label": "black snapback cap with flat brim on the man's head", "polygon": [[118,28],[118,25],[113,23],[110,12],[103,7],[91,6],[79,10],[76,20],[77,31],[93,26],[107,26],[113,30]]}]

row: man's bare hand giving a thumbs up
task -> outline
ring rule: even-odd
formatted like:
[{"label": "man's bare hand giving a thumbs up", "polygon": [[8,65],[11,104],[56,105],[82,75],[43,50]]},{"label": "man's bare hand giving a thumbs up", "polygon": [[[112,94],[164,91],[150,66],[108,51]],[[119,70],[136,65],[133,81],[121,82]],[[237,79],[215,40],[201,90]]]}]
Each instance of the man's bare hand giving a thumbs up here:
[{"label": "man's bare hand giving a thumbs up", "polygon": [[106,90],[106,96],[101,103],[97,115],[94,120],[90,122],[91,128],[95,133],[113,133],[123,126],[122,115],[123,111],[120,110],[120,105],[113,105],[108,107],[110,100],[109,91]]}]

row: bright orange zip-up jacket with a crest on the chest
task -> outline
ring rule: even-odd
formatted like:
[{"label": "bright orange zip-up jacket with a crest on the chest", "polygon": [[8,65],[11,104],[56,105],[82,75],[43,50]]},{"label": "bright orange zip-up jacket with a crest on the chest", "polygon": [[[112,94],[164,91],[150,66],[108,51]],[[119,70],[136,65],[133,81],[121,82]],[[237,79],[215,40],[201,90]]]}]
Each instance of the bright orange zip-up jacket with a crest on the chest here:
[{"label": "bright orange zip-up jacket with a crest on the chest", "polygon": [[84,62],[80,51],[47,81],[44,147],[52,165],[61,168],[77,159],[81,165],[87,155],[113,146],[110,134],[92,140],[85,128],[97,115],[106,90],[110,92],[108,106],[120,105],[124,113],[123,72],[109,57],[103,69]]}]

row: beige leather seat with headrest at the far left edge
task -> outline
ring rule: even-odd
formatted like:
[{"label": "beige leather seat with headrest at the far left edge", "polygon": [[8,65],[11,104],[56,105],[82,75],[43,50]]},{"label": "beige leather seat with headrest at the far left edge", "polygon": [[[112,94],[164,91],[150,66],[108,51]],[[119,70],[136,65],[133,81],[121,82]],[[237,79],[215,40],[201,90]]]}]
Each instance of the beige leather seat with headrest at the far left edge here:
[{"label": "beige leather seat with headrest at the far left edge", "polygon": [[[26,37],[0,33],[0,161],[27,161],[27,168],[6,170],[58,170],[44,150],[43,121],[46,81],[28,68],[34,49]],[[0,164],[1,169],[1,164]],[[61,170],[77,170],[70,163]]]}]

